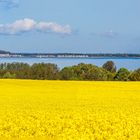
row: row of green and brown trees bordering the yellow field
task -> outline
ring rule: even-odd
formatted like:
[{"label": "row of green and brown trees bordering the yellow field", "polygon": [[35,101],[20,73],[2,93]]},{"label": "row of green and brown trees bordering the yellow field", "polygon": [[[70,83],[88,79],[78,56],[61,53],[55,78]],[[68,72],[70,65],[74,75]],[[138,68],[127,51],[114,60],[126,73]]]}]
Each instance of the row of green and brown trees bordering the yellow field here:
[{"label": "row of green and brown trees bordering the yellow field", "polygon": [[140,81],[140,68],[129,71],[117,70],[113,61],[107,61],[102,67],[80,63],[59,69],[52,63],[1,63],[1,79],[35,80],[90,80],[90,81]]}]

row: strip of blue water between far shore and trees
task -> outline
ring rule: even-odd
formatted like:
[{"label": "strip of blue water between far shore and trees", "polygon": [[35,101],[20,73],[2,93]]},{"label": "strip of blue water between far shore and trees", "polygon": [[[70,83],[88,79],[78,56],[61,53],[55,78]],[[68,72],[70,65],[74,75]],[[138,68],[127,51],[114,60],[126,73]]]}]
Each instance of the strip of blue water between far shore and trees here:
[{"label": "strip of blue water between far shore and trees", "polygon": [[54,63],[61,69],[65,66],[72,66],[79,63],[94,64],[102,66],[106,61],[112,60],[117,69],[127,68],[128,70],[135,70],[140,68],[140,58],[0,58],[0,63],[23,62],[28,64],[33,63]]}]

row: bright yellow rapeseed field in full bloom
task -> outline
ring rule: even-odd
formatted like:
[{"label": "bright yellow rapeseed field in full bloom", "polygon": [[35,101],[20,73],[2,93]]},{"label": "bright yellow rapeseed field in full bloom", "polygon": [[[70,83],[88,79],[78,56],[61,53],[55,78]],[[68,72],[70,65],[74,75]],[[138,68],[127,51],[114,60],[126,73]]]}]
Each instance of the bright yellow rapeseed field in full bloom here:
[{"label": "bright yellow rapeseed field in full bloom", "polygon": [[140,139],[140,82],[0,80],[0,139]]}]

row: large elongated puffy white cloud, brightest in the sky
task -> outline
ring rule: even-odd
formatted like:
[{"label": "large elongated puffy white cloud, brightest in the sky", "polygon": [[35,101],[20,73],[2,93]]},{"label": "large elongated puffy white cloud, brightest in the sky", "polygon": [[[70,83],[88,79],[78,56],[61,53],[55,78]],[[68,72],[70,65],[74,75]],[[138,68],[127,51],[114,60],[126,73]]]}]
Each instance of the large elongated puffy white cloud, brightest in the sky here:
[{"label": "large elongated puffy white cloud, brightest in the sky", "polygon": [[11,24],[0,24],[0,34],[17,35],[30,31],[57,34],[72,33],[72,29],[69,25],[62,26],[54,22],[36,22],[29,18],[17,20]]}]

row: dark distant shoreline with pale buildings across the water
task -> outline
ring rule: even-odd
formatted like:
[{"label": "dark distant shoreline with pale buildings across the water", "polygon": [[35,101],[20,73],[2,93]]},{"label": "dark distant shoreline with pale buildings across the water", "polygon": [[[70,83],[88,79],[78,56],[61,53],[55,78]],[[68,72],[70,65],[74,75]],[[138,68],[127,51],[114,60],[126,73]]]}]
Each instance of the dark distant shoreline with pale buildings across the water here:
[{"label": "dark distant shoreline with pale buildings across the water", "polygon": [[93,59],[140,59],[140,54],[125,53],[11,53],[0,52],[0,58],[93,58]]}]

